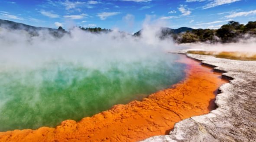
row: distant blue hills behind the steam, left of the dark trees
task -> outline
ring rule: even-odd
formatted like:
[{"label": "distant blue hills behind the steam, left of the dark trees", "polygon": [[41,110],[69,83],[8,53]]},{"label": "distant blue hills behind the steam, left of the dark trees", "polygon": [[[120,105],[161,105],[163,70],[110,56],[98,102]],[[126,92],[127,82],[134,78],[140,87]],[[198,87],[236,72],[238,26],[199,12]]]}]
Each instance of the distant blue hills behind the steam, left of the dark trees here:
[{"label": "distant blue hills behind the steam, left of the dark trees", "polygon": [[[178,28],[178,29],[172,29],[172,28],[161,28],[161,29],[162,29],[162,31],[161,31],[162,35],[160,37],[165,37],[167,35],[172,35],[172,34],[180,34],[180,33],[183,33],[183,32],[194,30],[194,29],[188,28],[188,27],[181,27],[181,28]],[[136,32],[134,35],[135,36],[140,36],[142,30]]]}]

